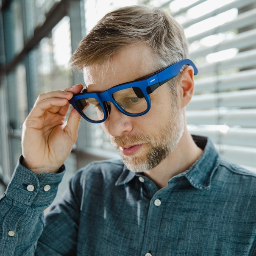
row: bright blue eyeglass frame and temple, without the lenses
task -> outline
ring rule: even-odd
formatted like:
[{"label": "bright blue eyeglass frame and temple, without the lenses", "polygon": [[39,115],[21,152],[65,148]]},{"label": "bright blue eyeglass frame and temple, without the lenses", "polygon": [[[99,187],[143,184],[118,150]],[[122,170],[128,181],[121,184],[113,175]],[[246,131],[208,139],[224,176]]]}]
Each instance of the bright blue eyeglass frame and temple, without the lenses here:
[{"label": "bright blue eyeglass frame and temple, without the lenses", "polygon": [[[154,90],[156,90],[159,86],[163,85],[164,83],[170,81],[172,78],[174,78],[178,73],[180,72],[181,68],[184,65],[189,65],[194,68],[194,75],[198,74],[198,69],[195,67],[195,64],[189,60],[184,59],[181,61],[178,61],[174,64],[171,64],[167,67],[164,67],[163,69],[154,72],[153,74],[147,75],[143,78],[138,78],[135,81],[131,81],[128,83],[122,83],[116,86],[111,87],[110,89],[106,90],[105,92],[83,92],[84,89],[74,95],[70,100],[69,103],[72,104],[72,106],[78,111],[81,116],[93,123],[100,123],[104,122],[108,118],[108,113],[110,112],[107,101],[111,102],[122,114],[125,114],[129,117],[139,117],[144,114],[146,114],[151,107],[151,100],[150,100],[150,93],[152,93]],[[145,100],[147,102],[147,109],[139,114],[130,114],[126,112],[124,109],[122,109],[114,100],[113,94],[114,92],[117,92],[122,89],[128,89],[131,87],[138,87],[143,92],[143,97],[145,97]],[[136,93],[136,92],[135,92]],[[75,104],[76,100],[81,100],[85,98],[95,98],[100,103],[100,106],[102,108],[102,111],[104,113],[104,119],[100,121],[91,120],[88,117],[86,117],[82,111],[82,109],[78,109],[78,107]]]}]

